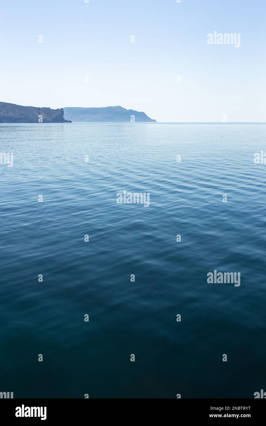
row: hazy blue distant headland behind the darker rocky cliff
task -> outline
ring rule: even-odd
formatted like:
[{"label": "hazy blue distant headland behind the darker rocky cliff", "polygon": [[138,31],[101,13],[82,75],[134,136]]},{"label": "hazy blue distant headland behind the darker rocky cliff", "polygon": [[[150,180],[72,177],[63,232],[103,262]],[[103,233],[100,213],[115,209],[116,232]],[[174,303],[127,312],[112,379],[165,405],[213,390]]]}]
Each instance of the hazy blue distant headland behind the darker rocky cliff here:
[{"label": "hazy blue distant headland behind the darker rocky cliff", "polygon": [[80,123],[156,122],[156,120],[149,118],[145,112],[138,112],[134,111],[134,109],[126,109],[120,106],[100,108],[64,107],[64,117],[67,120]]}]

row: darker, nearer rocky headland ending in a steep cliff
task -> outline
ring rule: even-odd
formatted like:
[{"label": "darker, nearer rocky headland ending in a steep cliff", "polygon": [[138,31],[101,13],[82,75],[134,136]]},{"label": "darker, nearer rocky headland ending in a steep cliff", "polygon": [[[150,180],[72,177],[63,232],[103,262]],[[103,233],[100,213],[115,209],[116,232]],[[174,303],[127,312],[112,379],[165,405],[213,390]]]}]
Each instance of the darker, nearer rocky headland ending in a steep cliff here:
[{"label": "darker, nearer rocky headland ending in a steep cliff", "polygon": [[22,105],[0,102],[0,123],[68,123],[64,109],[46,107],[23,107]]}]

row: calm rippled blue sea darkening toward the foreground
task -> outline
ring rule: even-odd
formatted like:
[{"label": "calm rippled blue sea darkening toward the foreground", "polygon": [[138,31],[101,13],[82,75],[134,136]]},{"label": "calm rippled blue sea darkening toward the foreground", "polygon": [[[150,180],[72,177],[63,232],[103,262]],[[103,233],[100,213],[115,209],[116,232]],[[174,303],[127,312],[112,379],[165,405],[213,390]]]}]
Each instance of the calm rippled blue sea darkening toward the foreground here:
[{"label": "calm rippled blue sea darkening toward the foreground", "polygon": [[[266,390],[265,141],[263,124],[0,125],[0,391]],[[240,286],[208,284],[215,269]]]}]

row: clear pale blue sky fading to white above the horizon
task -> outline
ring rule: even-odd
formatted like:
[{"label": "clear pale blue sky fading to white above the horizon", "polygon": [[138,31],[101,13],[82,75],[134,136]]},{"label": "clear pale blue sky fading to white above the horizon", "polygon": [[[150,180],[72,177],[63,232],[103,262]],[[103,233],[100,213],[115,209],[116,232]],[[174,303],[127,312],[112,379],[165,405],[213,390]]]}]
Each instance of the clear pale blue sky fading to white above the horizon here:
[{"label": "clear pale blue sky fading to white above the horizon", "polygon": [[86,1],[0,0],[0,101],[266,121],[265,0]]}]

